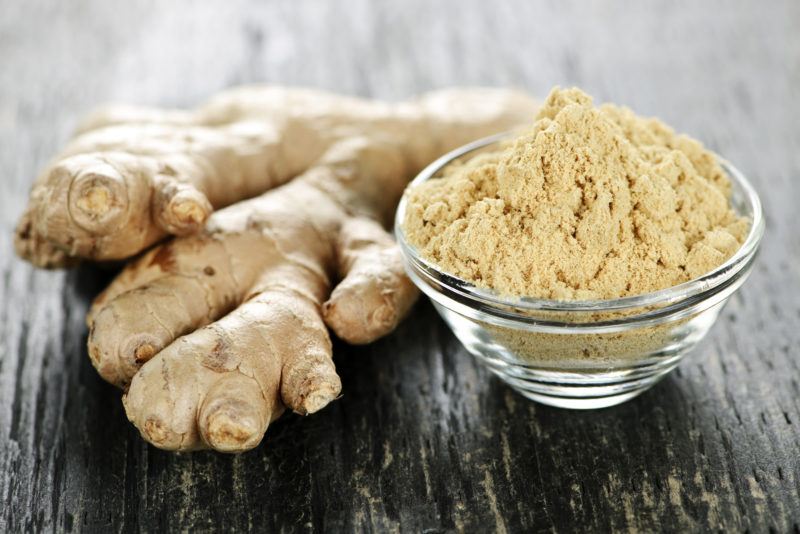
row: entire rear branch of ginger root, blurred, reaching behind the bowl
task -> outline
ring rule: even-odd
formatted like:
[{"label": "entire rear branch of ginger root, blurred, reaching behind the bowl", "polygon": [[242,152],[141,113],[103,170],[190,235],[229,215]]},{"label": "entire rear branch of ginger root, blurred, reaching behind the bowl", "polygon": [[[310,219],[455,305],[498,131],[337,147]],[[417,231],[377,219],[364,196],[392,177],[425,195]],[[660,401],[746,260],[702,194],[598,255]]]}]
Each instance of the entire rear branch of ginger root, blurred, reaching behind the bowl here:
[{"label": "entire rear branch of ginger root, blurred, reaching behind the bowl", "polygon": [[302,174],[343,139],[389,138],[413,170],[531,112],[530,100],[511,91],[386,103],[258,86],[188,112],[107,108],[84,121],[36,181],[15,248],[47,268],[128,258]]}]

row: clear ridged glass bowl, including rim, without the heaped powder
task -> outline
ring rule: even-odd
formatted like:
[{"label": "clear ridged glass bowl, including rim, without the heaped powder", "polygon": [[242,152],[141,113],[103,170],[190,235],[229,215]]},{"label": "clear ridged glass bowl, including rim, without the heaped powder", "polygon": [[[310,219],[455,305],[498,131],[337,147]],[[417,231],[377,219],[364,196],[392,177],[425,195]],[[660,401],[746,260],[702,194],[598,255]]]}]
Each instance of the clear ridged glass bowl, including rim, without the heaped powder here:
[{"label": "clear ridged glass bowl, including rim, without the heaped powder", "polygon": [[[436,179],[458,158],[494,148],[508,134],[439,158],[409,187]],[[714,271],[668,289],[612,300],[508,299],[451,276],[395,233],[411,280],[477,360],[524,396],[562,408],[613,406],[639,395],[674,369],[705,335],[753,267],[764,233],[761,202],[747,179],[721,160],[734,210],[750,219],[742,247]]]}]

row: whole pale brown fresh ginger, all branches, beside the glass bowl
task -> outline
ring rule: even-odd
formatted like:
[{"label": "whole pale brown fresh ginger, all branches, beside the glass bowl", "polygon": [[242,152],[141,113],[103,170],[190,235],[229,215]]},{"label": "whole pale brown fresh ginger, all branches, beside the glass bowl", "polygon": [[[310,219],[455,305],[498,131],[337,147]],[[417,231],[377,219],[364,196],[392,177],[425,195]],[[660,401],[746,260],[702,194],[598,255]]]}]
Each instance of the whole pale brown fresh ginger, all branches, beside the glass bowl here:
[{"label": "whole pale brown fresh ginger, all branches, beside the glass bowl", "polygon": [[[268,87],[189,113],[118,108],[34,188],[18,250],[54,266],[182,234],[97,297],[89,354],[153,445],[245,451],[286,408],[310,414],[339,396],[328,328],[368,343],[413,304],[383,227],[408,180],[534,111],[504,90],[385,104]],[[234,133],[245,125],[261,133]]]}]

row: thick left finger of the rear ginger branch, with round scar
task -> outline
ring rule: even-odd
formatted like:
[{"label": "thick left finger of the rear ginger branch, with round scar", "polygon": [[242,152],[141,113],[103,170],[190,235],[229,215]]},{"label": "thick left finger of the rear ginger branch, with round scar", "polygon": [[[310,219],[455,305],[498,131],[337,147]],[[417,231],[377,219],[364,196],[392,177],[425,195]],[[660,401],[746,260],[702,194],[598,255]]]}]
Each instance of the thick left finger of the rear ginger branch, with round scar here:
[{"label": "thick left finger of the rear ginger branch, with round scar", "polygon": [[[77,138],[31,192],[18,254],[50,242],[68,256],[129,257],[167,234],[202,228],[213,208],[266,191],[304,170],[321,150],[302,125],[237,123],[221,129],[115,126]],[[283,143],[302,144],[304,151]],[[290,158],[290,159],[287,159]],[[26,222],[27,222],[26,221]]]}]

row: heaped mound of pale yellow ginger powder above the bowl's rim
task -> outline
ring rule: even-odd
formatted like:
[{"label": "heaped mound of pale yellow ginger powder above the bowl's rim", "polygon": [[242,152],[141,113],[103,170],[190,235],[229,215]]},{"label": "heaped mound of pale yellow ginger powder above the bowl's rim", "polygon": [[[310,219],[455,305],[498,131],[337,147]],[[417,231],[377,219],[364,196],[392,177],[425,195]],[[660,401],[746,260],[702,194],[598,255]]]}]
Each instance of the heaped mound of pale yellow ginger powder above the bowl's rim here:
[{"label": "heaped mound of pale yellow ginger powder above the bowl's rim", "polygon": [[697,278],[742,244],[715,156],[657,119],[554,89],[529,131],[406,193],[403,231],[506,296],[609,299]]}]

